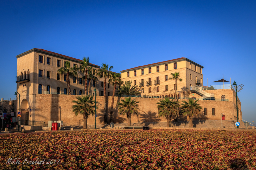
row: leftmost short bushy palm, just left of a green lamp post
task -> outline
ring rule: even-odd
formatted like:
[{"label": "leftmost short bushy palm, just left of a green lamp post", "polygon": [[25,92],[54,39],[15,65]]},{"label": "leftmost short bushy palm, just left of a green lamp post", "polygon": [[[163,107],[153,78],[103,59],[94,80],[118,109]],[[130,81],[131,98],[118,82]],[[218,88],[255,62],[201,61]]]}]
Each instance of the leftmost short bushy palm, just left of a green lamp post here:
[{"label": "leftmost short bushy palm, just left of a green lamp post", "polygon": [[[83,129],[87,129],[87,119],[89,115],[97,114],[95,113],[95,100],[93,100],[94,96],[79,96],[76,97],[76,100],[73,100],[72,102],[76,103],[72,106],[73,112],[76,114],[83,115]],[[96,101],[96,103],[99,103]]]}]

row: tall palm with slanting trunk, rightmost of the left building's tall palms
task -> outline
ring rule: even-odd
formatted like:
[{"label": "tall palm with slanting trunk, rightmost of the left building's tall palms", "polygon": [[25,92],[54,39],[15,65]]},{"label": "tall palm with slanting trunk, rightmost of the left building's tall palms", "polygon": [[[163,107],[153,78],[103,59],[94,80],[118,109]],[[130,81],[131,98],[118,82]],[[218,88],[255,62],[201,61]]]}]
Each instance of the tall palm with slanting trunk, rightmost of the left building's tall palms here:
[{"label": "tall palm with slanting trunk, rightmost of the left building's tall palms", "polygon": [[116,91],[116,85],[122,85],[123,81],[120,79],[121,74],[120,73],[114,73],[111,72],[111,78],[109,79],[109,83],[112,83],[114,86],[113,95],[112,95],[112,101],[111,101],[111,109],[110,109],[110,119],[109,122],[112,122],[112,114],[113,114],[113,107],[114,107],[114,97],[115,97],[115,91]]}]

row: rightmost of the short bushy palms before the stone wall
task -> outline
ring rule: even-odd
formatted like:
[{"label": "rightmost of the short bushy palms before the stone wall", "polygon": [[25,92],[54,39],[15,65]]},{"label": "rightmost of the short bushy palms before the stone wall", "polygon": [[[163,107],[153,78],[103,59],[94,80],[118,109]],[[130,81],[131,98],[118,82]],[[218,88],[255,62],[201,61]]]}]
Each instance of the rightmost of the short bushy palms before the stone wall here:
[{"label": "rightmost of the short bushy palms before the stone wall", "polygon": [[193,127],[193,122],[192,119],[195,117],[199,117],[201,114],[201,109],[202,107],[200,104],[197,103],[198,100],[194,102],[193,99],[189,99],[188,102],[182,101],[183,103],[181,104],[181,110],[183,115],[187,115],[187,121],[189,121],[189,127]]}]

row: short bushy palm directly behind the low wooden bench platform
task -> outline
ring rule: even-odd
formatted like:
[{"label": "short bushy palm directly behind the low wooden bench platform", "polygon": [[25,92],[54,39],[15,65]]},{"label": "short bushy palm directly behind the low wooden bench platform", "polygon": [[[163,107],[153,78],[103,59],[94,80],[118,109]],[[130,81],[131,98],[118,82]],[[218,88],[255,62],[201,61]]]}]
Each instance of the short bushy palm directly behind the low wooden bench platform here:
[{"label": "short bushy palm directly behind the low wooden bench platform", "polygon": [[139,101],[136,101],[136,99],[131,100],[131,97],[125,97],[124,99],[121,99],[121,102],[117,103],[118,106],[118,113],[121,115],[126,115],[128,120],[128,126],[132,126],[131,124],[131,116],[138,115],[138,104]]}]

